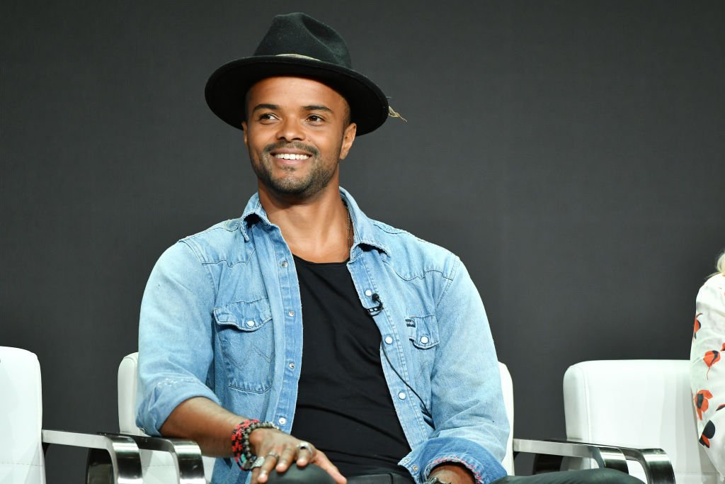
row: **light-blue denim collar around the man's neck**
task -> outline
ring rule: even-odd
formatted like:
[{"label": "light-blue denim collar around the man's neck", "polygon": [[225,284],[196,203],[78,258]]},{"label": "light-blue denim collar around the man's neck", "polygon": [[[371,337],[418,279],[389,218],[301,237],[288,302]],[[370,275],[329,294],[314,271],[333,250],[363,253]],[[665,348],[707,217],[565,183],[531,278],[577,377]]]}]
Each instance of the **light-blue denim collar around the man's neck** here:
[{"label": "light-blue denim collar around the man's neck", "polygon": [[[352,243],[352,249],[354,250],[359,245],[368,245],[370,247],[376,247],[377,249],[390,255],[389,247],[383,242],[383,240],[377,237],[381,232],[376,228],[374,221],[365,216],[363,210],[360,210],[360,207],[357,206],[357,202],[355,202],[355,199],[351,194],[349,194],[349,192],[347,192],[346,189],[341,186],[339,189],[340,197],[347,205],[347,210],[349,210],[350,218],[352,219],[352,227],[355,231],[355,240]],[[241,230],[241,234],[244,236],[244,240],[246,242],[249,242],[249,226],[251,226],[256,220],[259,220],[268,226],[273,225],[273,223],[269,221],[265,209],[262,208],[259,193],[254,193],[252,197],[249,198],[249,202],[247,202],[247,206],[244,208],[244,213],[242,213],[241,216],[241,223],[239,223],[239,229]]]}]

